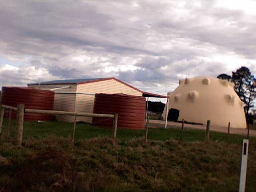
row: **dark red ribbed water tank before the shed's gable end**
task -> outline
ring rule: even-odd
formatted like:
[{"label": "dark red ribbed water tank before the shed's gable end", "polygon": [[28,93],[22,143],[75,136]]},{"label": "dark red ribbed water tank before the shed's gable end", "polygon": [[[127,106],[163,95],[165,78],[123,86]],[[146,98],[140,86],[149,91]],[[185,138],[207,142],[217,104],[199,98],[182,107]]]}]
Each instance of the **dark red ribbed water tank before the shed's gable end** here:
[{"label": "dark red ribbed water tank before the shed's gable end", "polygon": [[[96,94],[94,113],[118,113],[118,128],[144,129],[146,99],[125,94]],[[112,127],[113,119],[92,119],[94,125]]]}]

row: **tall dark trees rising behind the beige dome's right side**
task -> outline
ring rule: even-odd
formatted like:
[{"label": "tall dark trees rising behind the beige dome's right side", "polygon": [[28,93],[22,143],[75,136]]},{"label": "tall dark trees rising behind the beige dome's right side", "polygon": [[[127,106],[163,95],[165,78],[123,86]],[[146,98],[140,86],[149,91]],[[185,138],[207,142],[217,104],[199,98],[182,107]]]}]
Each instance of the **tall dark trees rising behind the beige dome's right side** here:
[{"label": "tall dark trees rising behind the beige dome's right side", "polygon": [[219,79],[228,80],[234,83],[234,90],[239,98],[244,102],[244,111],[246,120],[252,123],[253,118],[256,117],[256,109],[254,101],[256,99],[256,78],[247,67],[241,67],[232,75],[220,74]]}]

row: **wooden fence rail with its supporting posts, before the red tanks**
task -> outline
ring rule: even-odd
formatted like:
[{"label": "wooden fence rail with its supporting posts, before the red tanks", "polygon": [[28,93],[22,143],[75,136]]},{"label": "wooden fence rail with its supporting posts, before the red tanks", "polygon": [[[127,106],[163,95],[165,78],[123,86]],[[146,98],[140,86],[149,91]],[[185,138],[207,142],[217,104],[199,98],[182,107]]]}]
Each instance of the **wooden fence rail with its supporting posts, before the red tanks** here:
[{"label": "wooden fence rail with its supporting posts, before the red tanks", "polygon": [[116,139],[116,131],[117,131],[117,120],[118,114],[95,114],[95,113],[79,113],[79,112],[67,112],[67,111],[56,111],[56,110],[39,110],[39,109],[26,109],[24,104],[18,104],[17,107],[12,107],[8,105],[1,104],[0,105],[0,134],[2,133],[2,123],[4,118],[4,110],[9,110],[9,118],[8,118],[8,130],[7,137],[9,136],[10,132],[10,121],[11,121],[11,114],[12,110],[16,111],[17,114],[17,127],[15,129],[15,141],[14,143],[17,146],[21,146],[22,144],[22,133],[23,133],[23,121],[24,121],[24,113],[38,113],[38,114],[52,114],[52,115],[71,115],[74,116],[74,128],[73,128],[73,136],[72,142],[74,142],[75,130],[76,130],[76,116],[87,116],[87,117],[105,117],[105,118],[113,118],[113,132],[112,138]]}]

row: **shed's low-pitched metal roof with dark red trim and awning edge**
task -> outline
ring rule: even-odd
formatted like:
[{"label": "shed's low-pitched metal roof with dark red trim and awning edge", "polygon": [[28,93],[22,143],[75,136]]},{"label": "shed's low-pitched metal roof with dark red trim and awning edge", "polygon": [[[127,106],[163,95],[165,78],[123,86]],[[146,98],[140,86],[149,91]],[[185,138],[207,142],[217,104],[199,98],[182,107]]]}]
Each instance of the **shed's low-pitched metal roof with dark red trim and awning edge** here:
[{"label": "shed's low-pitched metal roof with dark red trim and awning edge", "polygon": [[[139,92],[142,93],[143,97],[156,97],[156,98],[167,98],[167,96],[163,96],[163,95],[158,95],[158,94],[154,94],[154,93],[148,93],[148,92],[144,92],[142,90],[139,90],[117,78],[114,77],[110,77],[110,78],[90,78],[90,79],[67,79],[67,80],[54,80],[54,81],[45,81],[45,82],[40,82],[40,85],[51,85],[51,84],[85,84],[85,83],[92,83],[92,82],[97,82],[97,81],[105,81],[105,80],[111,80],[114,79],[122,84],[125,84],[126,86],[129,86],[130,88],[133,88]],[[30,85],[39,85],[39,83],[32,83],[32,84],[28,84],[28,86]]]}]

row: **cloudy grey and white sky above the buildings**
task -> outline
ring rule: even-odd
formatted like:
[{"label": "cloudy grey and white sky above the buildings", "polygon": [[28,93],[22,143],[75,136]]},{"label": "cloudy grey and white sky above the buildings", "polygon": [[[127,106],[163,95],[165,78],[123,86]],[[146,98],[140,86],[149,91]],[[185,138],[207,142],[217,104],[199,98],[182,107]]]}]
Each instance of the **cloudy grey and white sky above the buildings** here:
[{"label": "cloudy grey and white sky above the buildings", "polygon": [[256,74],[254,0],[0,0],[0,87],[116,77],[164,94],[178,79]]}]

